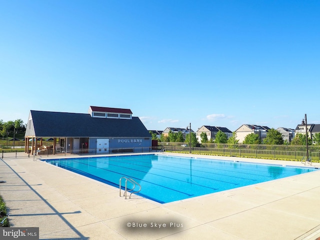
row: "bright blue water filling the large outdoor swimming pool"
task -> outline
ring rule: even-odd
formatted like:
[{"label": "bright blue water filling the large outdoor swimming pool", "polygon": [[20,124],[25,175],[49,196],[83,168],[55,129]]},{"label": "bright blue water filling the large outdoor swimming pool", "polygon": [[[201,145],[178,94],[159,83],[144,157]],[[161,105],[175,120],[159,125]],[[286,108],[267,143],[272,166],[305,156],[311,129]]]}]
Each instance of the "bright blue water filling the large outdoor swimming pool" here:
[{"label": "bright blue water filling the large outdoor swimming pool", "polygon": [[121,176],[131,177],[141,185],[138,195],[160,203],[317,170],[156,154],[65,158],[46,162],[116,187],[119,187]]}]

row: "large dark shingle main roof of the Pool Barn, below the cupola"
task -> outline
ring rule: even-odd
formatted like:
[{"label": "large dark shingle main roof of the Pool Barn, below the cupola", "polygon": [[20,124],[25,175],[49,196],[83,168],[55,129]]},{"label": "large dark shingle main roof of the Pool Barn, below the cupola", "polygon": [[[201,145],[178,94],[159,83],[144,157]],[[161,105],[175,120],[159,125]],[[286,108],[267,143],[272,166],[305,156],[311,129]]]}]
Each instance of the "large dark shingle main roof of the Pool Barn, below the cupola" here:
[{"label": "large dark shingle main roof of the Pool Barn, below the cupola", "polygon": [[[38,137],[150,137],[138,117],[98,118],[87,113],[30,111]],[[28,129],[25,135],[28,135]]]}]

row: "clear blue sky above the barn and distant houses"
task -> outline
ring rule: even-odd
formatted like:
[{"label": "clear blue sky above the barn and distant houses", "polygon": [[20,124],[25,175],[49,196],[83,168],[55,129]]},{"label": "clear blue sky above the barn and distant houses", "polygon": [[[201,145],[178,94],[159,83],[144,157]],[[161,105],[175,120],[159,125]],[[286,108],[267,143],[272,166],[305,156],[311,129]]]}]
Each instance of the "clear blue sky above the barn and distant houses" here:
[{"label": "clear blue sky above the barn and distant houses", "polygon": [[130,108],[147,129],[320,123],[318,0],[0,0],[0,119]]}]

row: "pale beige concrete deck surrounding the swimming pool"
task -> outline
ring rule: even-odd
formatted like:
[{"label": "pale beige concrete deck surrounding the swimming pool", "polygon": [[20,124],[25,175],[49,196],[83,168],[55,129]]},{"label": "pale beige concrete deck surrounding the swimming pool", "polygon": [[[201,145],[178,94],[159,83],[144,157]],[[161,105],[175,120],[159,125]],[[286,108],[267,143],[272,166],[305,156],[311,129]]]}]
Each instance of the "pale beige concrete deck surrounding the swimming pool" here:
[{"label": "pale beige concrete deck surrounding the swimming pool", "polygon": [[[304,166],[299,161],[192,156]],[[116,187],[33,158],[1,159],[0,180],[6,181],[0,183],[0,195],[11,226],[39,227],[40,239],[315,240],[320,236],[320,171],[165,204],[140,196],[124,199]]]}]

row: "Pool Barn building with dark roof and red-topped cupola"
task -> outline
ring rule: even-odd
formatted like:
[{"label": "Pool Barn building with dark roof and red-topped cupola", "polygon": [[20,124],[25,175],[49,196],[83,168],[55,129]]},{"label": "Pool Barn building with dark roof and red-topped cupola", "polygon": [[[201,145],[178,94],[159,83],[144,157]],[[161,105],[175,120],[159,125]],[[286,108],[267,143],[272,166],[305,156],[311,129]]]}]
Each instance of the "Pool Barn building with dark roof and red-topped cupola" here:
[{"label": "Pool Barn building with dark roof and red-topped cupola", "polygon": [[[130,109],[90,106],[88,113],[30,110],[25,152],[109,153],[151,149],[151,135]],[[30,150],[31,149],[31,150]]]}]

